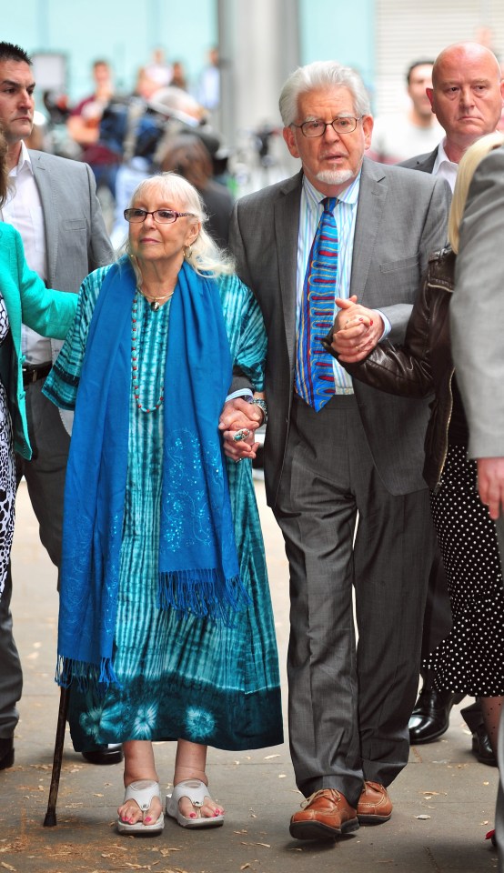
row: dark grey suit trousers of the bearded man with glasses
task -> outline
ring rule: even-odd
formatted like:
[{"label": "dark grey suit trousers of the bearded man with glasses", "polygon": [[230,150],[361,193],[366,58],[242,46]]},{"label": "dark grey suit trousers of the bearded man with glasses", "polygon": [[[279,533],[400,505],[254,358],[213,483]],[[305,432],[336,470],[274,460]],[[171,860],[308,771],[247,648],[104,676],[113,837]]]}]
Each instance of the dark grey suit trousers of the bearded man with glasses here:
[{"label": "dark grey suit trousers of the bearded man with glasses", "polygon": [[388,493],[354,396],[318,413],[295,396],[275,514],[290,567],[297,786],[357,805],[363,779],[387,786],[408,762],[435,543],[428,490]]}]

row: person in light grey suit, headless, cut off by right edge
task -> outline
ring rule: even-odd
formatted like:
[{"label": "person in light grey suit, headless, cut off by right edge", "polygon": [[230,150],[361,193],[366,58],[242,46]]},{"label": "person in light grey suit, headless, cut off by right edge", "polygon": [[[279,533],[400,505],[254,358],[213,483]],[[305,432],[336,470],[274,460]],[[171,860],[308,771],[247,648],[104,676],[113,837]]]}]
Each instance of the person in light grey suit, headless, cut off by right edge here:
[{"label": "person in light grey suit, headless, cut off by right edge", "polygon": [[[450,306],[453,361],[469,423],[469,457],[499,536],[504,567],[504,147],[474,174],[460,227],[455,293]],[[496,810],[499,873],[504,873],[504,720],[499,726],[500,785]]]}]

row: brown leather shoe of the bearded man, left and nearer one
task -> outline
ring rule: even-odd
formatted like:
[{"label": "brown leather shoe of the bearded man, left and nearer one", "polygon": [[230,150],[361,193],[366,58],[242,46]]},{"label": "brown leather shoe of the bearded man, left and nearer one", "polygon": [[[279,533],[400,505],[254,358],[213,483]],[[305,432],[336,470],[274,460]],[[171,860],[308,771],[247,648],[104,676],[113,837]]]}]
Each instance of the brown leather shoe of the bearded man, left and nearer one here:
[{"label": "brown leather shoe of the bearded man, left and nearer one", "polygon": [[357,811],[336,788],[322,788],[307,798],[290,819],[296,839],[336,839],[358,830]]}]

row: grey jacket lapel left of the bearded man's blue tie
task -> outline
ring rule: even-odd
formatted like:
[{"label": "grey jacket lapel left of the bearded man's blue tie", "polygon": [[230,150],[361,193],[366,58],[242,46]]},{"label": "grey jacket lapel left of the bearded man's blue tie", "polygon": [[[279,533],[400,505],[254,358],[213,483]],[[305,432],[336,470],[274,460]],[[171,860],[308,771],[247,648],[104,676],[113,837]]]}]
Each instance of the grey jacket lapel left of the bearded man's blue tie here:
[{"label": "grey jacket lapel left of the bearded man's blue tie", "polygon": [[302,171],[287,179],[274,206],[280,299],[291,368],[296,356],[297,236],[302,179]]}]

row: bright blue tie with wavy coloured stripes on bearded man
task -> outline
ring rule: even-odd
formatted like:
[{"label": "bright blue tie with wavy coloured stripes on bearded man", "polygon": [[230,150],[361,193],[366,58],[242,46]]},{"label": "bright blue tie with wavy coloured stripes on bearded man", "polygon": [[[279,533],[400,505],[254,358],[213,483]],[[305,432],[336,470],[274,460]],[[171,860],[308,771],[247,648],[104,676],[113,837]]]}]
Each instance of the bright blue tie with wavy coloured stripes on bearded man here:
[{"label": "bright blue tie with wavy coloured stripes on bearded man", "polygon": [[322,200],[324,212],[309,253],[297,329],[296,391],[316,412],[334,394],[333,359],[320,340],[334,322],[338,275],[336,197]]}]

